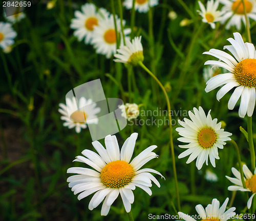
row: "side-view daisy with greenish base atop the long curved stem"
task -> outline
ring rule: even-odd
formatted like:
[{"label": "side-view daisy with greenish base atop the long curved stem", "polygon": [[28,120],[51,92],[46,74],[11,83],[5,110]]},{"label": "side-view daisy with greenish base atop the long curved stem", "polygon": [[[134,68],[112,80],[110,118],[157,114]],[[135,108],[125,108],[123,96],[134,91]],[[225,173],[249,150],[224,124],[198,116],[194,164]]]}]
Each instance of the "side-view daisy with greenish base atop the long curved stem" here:
[{"label": "side-view daisy with greenish base atop the long curved stem", "polygon": [[144,60],[143,47],[141,44],[141,36],[135,37],[132,42],[127,40],[125,46],[120,47],[114,56],[115,62],[121,62],[125,64],[138,65],[138,63]]}]

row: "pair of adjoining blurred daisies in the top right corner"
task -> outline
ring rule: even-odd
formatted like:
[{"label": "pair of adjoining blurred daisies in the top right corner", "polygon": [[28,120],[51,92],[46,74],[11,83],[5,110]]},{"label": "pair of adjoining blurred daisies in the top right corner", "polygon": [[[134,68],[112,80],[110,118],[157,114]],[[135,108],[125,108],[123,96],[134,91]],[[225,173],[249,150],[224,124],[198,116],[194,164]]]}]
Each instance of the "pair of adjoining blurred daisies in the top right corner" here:
[{"label": "pair of adjoining blurred daisies in the top right corner", "polygon": [[[206,7],[200,1],[198,3],[201,10],[198,12],[203,17],[203,22],[209,23],[212,29],[215,29],[215,23],[220,21],[222,24],[227,22],[226,29],[236,26],[240,30],[241,22],[246,23],[244,11],[248,18],[256,20],[256,2],[254,0],[244,0],[244,5],[242,0],[209,0]],[[218,10],[219,3],[223,5],[220,10]]]}]

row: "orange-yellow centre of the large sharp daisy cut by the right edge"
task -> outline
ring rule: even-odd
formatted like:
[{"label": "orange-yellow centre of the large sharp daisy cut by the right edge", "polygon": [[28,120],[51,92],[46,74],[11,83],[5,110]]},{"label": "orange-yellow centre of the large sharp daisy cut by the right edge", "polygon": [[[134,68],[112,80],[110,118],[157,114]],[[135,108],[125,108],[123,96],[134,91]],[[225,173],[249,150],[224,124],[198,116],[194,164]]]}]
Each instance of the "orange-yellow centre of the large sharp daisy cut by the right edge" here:
[{"label": "orange-yellow centre of the large sharp daisy cut by the right edge", "polygon": [[241,85],[256,87],[256,59],[247,58],[240,61],[234,69],[234,76]]}]

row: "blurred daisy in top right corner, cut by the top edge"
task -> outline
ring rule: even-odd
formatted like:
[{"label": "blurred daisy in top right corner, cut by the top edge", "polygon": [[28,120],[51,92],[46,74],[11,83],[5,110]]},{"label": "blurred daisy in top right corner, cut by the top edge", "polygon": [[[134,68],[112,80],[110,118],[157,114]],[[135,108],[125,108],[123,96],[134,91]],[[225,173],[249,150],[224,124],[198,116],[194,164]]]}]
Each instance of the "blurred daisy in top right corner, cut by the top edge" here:
[{"label": "blurred daisy in top right corner, cut by the top edge", "polygon": [[[224,13],[222,23],[231,17],[226,25],[226,29],[230,26],[236,26],[238,30],[241,29],[241,20],[246,24],[244,16],[244,6],[241,0],[220,0],[224,6],[222,12]],[[255,0],[244,0],[246,14],[249,18],[256,20],[256,4]]]}]

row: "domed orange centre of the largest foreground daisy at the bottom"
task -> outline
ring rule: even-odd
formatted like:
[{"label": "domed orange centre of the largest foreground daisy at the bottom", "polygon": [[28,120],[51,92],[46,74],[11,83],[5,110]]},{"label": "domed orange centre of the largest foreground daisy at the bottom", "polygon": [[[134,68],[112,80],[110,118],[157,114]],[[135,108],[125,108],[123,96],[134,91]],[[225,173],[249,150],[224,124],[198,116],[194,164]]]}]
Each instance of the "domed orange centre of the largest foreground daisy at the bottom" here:
[{"label": "domed orange centre of the largest foreground daisy at the bottom", "polygon": [[134,175],[134,169],[129,163],[117,160],[105,165],[100,179],[106,187],[120,188],[129,184]]}]

